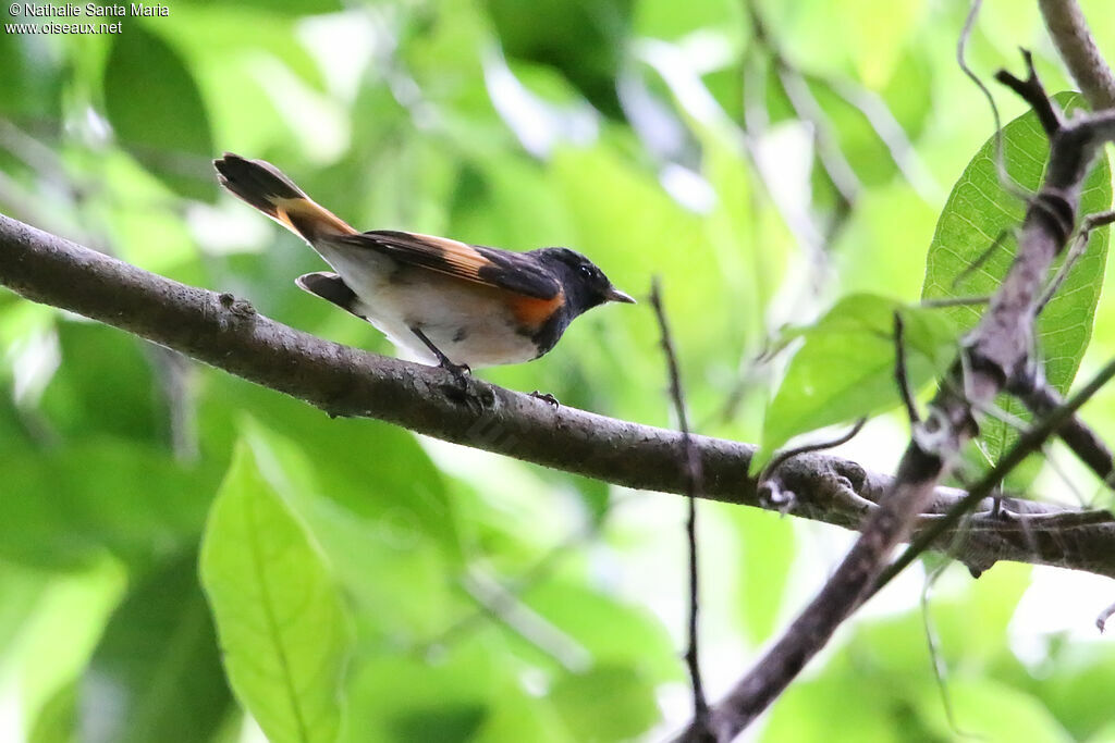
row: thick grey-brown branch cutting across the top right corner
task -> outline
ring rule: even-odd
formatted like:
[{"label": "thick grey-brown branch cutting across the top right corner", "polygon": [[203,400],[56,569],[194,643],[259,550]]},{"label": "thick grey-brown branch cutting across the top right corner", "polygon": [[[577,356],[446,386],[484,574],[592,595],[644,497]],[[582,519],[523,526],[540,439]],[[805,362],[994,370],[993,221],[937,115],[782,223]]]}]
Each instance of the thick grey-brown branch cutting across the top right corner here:
[{"label": "thick grey-brown branch cutting across the top right corner", "polygon": [[1077,0],[1038,0],[1060,58],[1092,110],[1115,108],[1115,75],[1092,37]]}]

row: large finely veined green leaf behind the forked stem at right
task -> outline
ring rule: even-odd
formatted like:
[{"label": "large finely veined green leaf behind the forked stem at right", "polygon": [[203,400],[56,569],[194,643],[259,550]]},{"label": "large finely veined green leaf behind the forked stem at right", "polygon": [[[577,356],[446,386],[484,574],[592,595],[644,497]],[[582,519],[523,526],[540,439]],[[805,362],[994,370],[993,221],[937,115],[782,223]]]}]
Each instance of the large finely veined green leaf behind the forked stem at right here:
[{"label": "large finely veined green leaf behind the forked stem at right", "polygon": [[[1084,106],[1075,92],[1054,96],[1066,114]],[[1035,192],[1041,185],[1049,144],[1032,111],[1010,121],[1002,129],[1007,172],[1022,188]],[[1082,215],[1103,212],[1112,205],[1111,167],[1106,155],[1099,158],[1084,182],[1080,194]],[[987,143],[964,168],[952,188],[937,223],[937,233],[925,258],[927,299],[979,296],[995,292],[1014,260],[1017,245],[1012,228],[1021,224],[1026,205],[999,185],[995,165],[995,140]],[[961,281],[957,278],[983,255],[996,237],[1008,231],[1006,238],[992,251],[986,263]],[[1080,365],[1080,359],[1092,338],[1092,324],[1107,260],[1108,232],[1092,233],[1088,247],[1049,302],[1037,322],[1037,344],[1045,359],[1046,378],[1060,392],[1066,392]],[[1058,260],[1057,266],[1060,265]],[[953,284],[956,283],[956,286]],[[957,325],[971,329],[982,314],[981,307],[962,306],[947,311]],[[1026,416],[1020,404],[1001,398],[1000,407],[1015,416]],[[985,420],[981,440],[992,460],[1010,447],[1017,437],[1006,423]]]}]

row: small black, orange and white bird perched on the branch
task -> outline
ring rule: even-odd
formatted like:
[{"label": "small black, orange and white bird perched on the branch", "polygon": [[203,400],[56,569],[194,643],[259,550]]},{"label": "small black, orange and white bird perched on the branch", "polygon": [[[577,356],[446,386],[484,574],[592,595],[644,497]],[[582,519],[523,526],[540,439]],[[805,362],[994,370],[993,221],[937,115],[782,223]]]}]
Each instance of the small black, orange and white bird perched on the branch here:
[{"label": "small black, orange and white bird perched on the branch", "polygon": [[515,252],[414,232],[357,232],[266,160],[225,153],[213,166],[232,195],[304,239],[333,268],[299,276],[299,287],[462,383],[473,369],[550,352],[592,307],[636,303],[568,247]]}]

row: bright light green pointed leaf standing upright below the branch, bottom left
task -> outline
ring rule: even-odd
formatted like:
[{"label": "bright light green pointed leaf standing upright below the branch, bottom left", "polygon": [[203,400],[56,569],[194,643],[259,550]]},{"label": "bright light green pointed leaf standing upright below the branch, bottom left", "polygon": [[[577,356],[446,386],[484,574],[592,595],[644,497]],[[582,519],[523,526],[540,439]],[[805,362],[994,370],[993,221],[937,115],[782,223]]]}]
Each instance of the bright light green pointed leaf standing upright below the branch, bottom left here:
[{"label": "bright light green pointed leaf standing upright below the branch, bottom left", "polygon": [[202,542],[202,585],[236,697],[268,737],[333,741],[351,639],[318,548],[240,444]]}]

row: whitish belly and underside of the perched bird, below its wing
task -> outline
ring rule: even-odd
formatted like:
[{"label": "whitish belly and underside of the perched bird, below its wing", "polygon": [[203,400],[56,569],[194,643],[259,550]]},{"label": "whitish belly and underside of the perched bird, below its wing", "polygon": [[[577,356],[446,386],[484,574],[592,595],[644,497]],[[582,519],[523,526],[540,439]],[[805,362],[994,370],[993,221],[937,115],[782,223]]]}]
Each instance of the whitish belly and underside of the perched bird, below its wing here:
[{"label": "whitish belly and underside of the perched bird, below its wing", "polygon": [[362,305],[360,314],[414,361],[436,365],[434,353],[411,332],[418,327],[442,353],[472,369],[521,363],[537,356],[534,341],[518,331],[493,292],[419,267],[399,267],[370,251],[318,246]]}]

